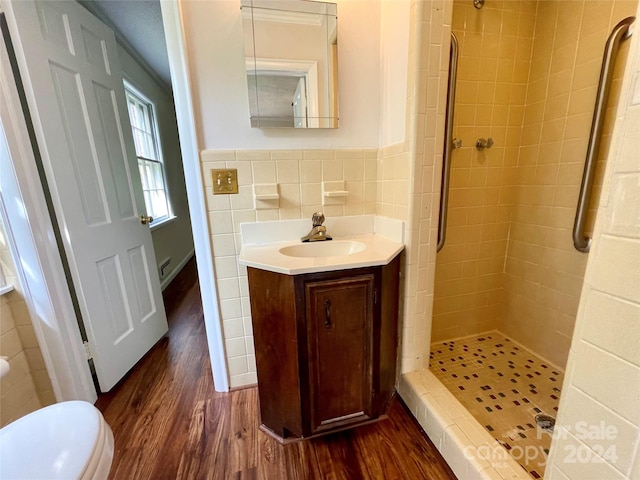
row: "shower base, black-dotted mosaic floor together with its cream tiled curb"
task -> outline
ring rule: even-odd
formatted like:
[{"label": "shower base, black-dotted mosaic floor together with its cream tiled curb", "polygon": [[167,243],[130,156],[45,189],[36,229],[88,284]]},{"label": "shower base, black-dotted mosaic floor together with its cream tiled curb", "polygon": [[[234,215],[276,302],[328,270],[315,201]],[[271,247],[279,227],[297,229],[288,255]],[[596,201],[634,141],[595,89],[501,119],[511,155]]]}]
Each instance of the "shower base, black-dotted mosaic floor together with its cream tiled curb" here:
[{"label": "shower base, black-dotted mosaic floor together with its cream tiled curb", "polygon": [[459,478],[542,478],[560,369],[497,331],[431,345],[399,393]]}]

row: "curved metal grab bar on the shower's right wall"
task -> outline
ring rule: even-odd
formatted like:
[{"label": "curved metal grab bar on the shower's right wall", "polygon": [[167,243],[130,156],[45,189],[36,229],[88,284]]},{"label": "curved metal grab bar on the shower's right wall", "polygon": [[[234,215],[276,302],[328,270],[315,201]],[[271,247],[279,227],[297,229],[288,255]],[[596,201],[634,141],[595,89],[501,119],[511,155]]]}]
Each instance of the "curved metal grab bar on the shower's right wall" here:
[{"label": "curved metal grab bar on the shower's right wall", "polygon": [[604,125],[609,91],[611,89],[613,69],[615,67],[620,42],[629,38],[633,33],[630,27],[635,19],[636,17],[627,17],[618,23],[611,31],[604,47],[604,58],[602,59],[602,68],[600,69],[600,80],[598,82],[593,121],[591,122],[587,157],[584,163],[584,172],[582,173],[582,184],[580,185],[576,218],[573,222],[573,246],[576,250],[584,253],[587,253],[591,248],[591,238],[584,233],[584,229],[598,161],[598,150],[600,150],[600,140],[602,139],[602,127]]}]

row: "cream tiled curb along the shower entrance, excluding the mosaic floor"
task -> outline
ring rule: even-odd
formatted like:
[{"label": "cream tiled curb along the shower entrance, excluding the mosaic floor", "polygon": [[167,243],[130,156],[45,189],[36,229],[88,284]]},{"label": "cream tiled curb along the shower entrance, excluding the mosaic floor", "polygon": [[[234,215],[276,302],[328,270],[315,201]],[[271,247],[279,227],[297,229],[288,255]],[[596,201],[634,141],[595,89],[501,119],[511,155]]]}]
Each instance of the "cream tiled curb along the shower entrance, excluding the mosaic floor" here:
[{"label": "cream tiled curb along the shower entrance, excluding the mosaic floor", "polygon": [[429,370],[402,375],[398,393],[461,480],[531,480]]}]

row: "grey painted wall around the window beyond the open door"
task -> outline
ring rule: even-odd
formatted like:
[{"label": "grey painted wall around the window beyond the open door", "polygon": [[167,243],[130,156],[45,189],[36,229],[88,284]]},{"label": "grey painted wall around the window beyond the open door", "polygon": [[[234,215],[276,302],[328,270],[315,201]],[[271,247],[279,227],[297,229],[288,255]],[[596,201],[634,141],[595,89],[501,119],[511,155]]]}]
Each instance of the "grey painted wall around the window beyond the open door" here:
[{"label": "grey painted wall around the window beyond the open door", "polygon": [[118,55],[124,77],[155,104],[158,116],[167,189],[173,214],[176,216],[171,223],[157,227],[151,232],[156,263],[160,265],[167,257],[171,257],[169,269],[165,269],[165,275],[160,277],[160,283],[164,288],[179,271],[181,262],[187,260],[193,253],[193,236],[175,107],[173,97],[161,88],[120,44],[118,44]]}]

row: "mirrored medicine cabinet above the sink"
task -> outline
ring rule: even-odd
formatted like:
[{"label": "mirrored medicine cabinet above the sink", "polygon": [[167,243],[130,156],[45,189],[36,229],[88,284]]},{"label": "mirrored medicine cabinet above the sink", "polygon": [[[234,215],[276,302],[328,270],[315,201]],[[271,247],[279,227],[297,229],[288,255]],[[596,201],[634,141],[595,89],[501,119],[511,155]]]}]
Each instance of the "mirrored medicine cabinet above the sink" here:
[{"label": "mirrored medicine cabinet above the sink", "polygon": [[251,126],[338,128],[337,5],[242,0]]}]

